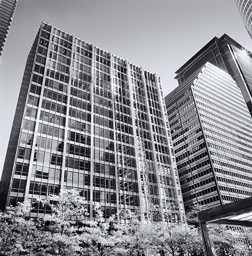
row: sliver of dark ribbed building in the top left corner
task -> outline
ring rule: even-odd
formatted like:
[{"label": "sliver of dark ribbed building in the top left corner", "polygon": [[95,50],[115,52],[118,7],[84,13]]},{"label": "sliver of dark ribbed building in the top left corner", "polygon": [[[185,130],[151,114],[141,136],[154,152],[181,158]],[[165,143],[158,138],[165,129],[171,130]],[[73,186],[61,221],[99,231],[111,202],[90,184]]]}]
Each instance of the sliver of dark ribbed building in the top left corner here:
[{"label": "sliver of dark ribbed building in the top left corner", "polygon": [[17,0],[0,1],[0,59],[5,47],[6,39],[12,24],[13,16],[17,7]]}]

